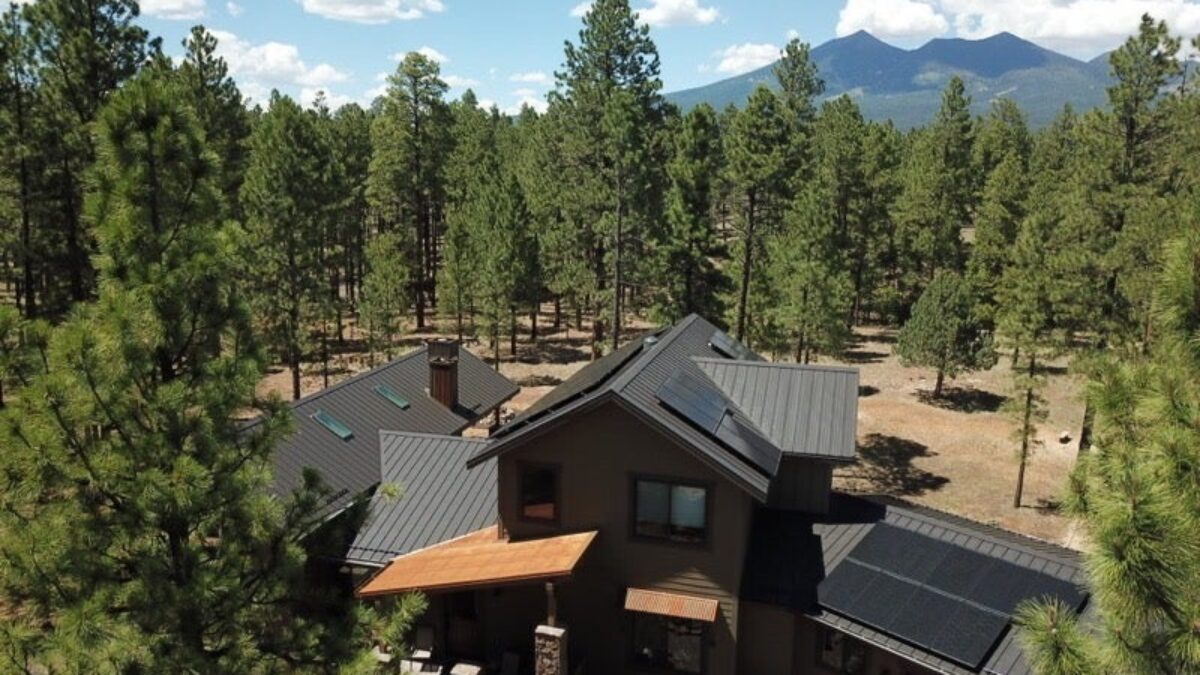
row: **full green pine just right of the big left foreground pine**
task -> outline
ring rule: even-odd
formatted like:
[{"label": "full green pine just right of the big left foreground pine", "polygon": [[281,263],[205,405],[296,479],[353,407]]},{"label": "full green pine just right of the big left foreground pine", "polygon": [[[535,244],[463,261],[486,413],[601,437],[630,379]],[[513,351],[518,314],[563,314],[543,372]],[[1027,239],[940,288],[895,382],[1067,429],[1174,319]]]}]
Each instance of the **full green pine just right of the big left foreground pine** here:
[{"label": "full green pine just right of the big left foreground pine", "polygon": [[292,370],[299,399],[300,365],[310,329],[325,299],[318,259],[330,204],[322,197],[329,148],[311,115],[272,92],[254,127],[241,189],[247,219],[246,274],[265,339]]}]

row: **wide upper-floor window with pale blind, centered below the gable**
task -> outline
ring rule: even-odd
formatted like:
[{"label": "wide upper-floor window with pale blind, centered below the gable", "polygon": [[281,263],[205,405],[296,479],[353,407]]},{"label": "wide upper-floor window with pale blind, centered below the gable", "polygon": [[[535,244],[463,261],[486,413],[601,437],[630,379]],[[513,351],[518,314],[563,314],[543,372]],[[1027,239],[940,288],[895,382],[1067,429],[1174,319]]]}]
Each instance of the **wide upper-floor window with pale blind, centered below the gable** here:
[{"label": "wide upper-floor window with pale blind, centered below the gable", "polygon": [[708,489],[638,478],[634,482],[634,533],[683,544],[708,539]]}]

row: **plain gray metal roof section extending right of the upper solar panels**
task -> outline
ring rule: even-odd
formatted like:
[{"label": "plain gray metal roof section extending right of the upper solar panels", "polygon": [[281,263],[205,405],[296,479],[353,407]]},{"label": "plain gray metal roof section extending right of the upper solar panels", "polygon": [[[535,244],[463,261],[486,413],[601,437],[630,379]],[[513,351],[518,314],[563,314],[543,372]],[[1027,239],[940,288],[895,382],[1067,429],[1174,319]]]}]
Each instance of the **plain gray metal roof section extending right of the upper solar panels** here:
[{"label": "plain gray metal roof section extending right of the upper solar panels", "polygon": [[696,362],[779,449],[854,460],[857,369],[709,358]]}]

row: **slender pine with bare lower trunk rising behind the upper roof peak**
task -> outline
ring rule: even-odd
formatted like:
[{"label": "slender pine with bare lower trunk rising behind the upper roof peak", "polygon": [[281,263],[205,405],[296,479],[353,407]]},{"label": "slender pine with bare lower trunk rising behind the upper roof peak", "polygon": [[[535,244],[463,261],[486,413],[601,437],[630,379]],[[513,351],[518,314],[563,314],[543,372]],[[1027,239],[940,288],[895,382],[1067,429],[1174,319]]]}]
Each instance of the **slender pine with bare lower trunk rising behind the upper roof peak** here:
[{"label": "slender pine with bare lower trunk rising behind the upper roof peak", "polygon": [[779,98],[767,86],[758,86],[724,137],[728,180],[740,202],[737,220],[740,237],[734,252],[738,279],[734,330],[742,341],[746,341],[755,321],[750,316],[752,303],[770,304],[766,274],[757,270],[757,264],[766,255],[766,237],[779,225],[779,202],[790,175],[790,138],[780,115]]}]

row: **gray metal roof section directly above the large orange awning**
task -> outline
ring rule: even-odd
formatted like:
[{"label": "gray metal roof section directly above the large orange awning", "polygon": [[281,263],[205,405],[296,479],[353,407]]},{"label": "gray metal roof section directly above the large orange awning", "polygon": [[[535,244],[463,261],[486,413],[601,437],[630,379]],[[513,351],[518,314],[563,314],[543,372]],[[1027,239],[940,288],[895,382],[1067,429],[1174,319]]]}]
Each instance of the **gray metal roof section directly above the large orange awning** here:
[{"label": "gray metal roof section directly above the large orange awning", "polygon": [[376,490],[366,524],[347,560],[382,566],[389,560],[461,537],[496,522],[496,461],[467,468],[482,440],[383,431],[379,435],[383,485]]}]

